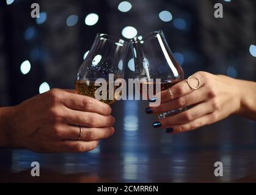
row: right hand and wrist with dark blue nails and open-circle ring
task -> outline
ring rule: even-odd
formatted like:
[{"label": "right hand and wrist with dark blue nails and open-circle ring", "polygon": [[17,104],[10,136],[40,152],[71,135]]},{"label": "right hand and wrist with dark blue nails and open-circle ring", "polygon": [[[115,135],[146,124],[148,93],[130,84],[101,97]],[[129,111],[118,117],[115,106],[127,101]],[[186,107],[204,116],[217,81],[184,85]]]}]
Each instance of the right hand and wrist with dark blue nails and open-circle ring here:
[{"label": "right hand and wrist with dark blue nails and open-circle ring", "polygon": [[[223,75],[206,72],[193,74],[199,77],[201,85],[193,90],[188,80],[183,80],[161,92],[161,105],[152,107],[154,114],[177,108],[191,106],[185,112],[159,120],[160,128],[173,129],[172,133],[187,132],[227,118],[240,115],[256,120],[256,83],[233,79]],[[190,80],[192,87],[199,84],[197,79]]]}]

